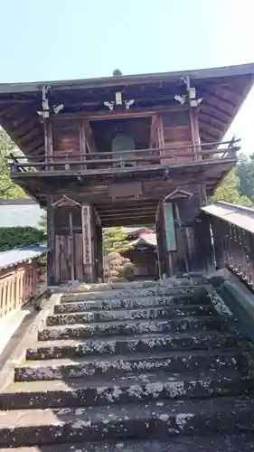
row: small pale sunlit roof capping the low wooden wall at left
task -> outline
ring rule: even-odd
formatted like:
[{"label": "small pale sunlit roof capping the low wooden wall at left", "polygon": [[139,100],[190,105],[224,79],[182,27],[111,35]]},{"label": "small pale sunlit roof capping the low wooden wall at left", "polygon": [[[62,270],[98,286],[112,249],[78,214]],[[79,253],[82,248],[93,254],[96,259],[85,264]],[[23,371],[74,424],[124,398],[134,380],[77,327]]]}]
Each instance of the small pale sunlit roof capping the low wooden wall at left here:
[{"label": "small pale sunlit roof capping the low wooden wall at left", "polygon": [[47,247],[34,245],[17,250],[2,251],[0,252],[0,269],[13,267],[15,264],[20,264],[26,260],[36,259],[50,250]]}]

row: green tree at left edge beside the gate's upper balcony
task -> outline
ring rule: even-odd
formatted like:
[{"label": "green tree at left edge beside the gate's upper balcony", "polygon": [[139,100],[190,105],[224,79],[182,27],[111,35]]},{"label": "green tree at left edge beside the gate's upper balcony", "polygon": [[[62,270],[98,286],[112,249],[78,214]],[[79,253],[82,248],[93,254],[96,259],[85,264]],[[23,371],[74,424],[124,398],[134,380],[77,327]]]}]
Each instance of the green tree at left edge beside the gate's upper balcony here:
[{"label": "green tree at left edge beside the gate's upper balcony", "polygon": [[26,198],[24,190],[11,180],[10,168],[7,163],[8,156],[11,153],[18,155],[19,150],[5,133],[5,130],[0,127],[0,198]]}]

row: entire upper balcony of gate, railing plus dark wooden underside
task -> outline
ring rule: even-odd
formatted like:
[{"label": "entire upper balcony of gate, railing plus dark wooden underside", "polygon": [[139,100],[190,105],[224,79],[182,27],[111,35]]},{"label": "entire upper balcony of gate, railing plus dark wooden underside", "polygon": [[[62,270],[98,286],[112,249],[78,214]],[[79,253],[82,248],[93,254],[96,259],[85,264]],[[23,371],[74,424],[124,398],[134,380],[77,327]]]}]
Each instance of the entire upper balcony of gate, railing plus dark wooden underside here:
[{"label": "entire upper balcony of gate, railing plus dark wooden underside", "polygon": [[232,140],[44,159],[13,157],[11,175],[14,182],[37,198],[38,188],[40,195],[71,190],[93,193],[109,185],[116,185],[118,190],[119,183],[123,191],[130,190],[132,184],[134,190],[136,183],[146,185],[148,197],[165,195],[171,185],[205,184],[207,192],[212,193],[221,177],[236,164],[239,145],[240,140]]}]

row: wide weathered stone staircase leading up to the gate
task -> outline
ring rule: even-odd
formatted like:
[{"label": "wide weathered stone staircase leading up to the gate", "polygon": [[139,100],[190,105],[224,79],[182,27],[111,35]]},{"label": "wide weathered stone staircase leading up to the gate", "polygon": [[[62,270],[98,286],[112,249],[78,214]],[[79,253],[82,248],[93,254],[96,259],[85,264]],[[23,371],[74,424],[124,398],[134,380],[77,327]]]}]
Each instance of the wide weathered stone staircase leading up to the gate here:
[{"label": "wide weathered stone staircase leading up to the gate", "polygon": [[199,285],[63,295],[0,395],[0,451],[254,451],[251,350]]}]

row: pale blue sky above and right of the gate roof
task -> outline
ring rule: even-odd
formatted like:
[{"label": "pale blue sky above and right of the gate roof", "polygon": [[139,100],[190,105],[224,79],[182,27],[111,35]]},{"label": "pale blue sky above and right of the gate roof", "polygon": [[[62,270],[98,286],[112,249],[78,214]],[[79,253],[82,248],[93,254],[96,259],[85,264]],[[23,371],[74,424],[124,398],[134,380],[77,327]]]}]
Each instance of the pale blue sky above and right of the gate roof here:
[{"label": "pale blue sky above and right of the gate roof", "polygon": [[[254,0],[0,0],[0,82],[254,62]],[[230,127],[254,152],[254,89]]]}]

